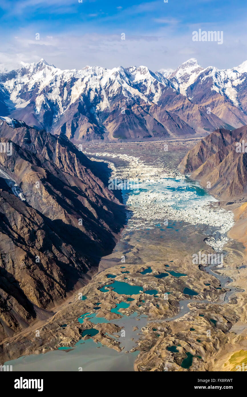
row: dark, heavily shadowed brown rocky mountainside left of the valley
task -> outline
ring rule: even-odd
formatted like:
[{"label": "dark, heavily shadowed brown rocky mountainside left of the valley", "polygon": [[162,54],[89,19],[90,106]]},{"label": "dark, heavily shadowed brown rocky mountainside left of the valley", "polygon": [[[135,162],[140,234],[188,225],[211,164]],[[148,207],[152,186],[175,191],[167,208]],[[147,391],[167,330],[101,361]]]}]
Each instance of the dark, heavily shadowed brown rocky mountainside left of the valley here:
[{"label": "dark, heavily shadowed brown rocky mountainside left of the valley", "polygon": [[0,153],[0,339],[46,317],[79,279],[85,284],[125,220],[92,171],[100,170],[66,137],[4,121],[0,141],[8,139],[12,154]]}]

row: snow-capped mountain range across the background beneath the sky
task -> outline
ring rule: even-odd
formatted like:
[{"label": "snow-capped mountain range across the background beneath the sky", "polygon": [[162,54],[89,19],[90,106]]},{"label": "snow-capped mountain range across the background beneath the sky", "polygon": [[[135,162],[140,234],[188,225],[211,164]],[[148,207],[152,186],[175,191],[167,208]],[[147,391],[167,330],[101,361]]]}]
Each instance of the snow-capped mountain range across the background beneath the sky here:
[{"label": "snow-capped mountain range across the background beneath the sky", "polygon": [[247,61],[232,69],[191,58],[146,66],[61,70],[41,59],[0,72],[0,116],[83,141],[204,136],[247,124]]}]

